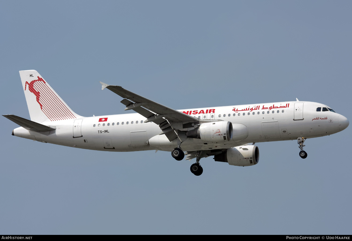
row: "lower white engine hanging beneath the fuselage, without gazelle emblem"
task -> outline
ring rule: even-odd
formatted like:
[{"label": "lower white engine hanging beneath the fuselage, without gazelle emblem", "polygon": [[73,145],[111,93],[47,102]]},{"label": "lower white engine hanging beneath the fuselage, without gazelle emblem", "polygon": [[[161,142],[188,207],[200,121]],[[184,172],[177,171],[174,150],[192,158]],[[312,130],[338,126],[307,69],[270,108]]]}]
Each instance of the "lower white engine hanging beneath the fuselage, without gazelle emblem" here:
[{"label": "lower white engine hanging beneath the fuselage, without gazelle emblem", "polygon": [[259,149],[253,145],[232,147],[215,155],[214,160],[228,162],[233,166],[253,166],[259,161]]}]

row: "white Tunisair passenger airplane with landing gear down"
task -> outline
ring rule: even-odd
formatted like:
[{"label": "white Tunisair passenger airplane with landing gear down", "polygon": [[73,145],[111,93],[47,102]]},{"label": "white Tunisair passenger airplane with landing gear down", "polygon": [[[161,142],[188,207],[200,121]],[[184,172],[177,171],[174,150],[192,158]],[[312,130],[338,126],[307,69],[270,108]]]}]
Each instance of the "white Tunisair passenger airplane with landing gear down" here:
[{"label": "white Tunisair passenger airplane with landing gear down", "polygon": [[[196,159],[190,171],[203,173],[200,159],[213,156],[233,166],[259,161],[257,142],[297,140],[299,156],[307,157],[307,138],[347,128],[346,117],[329,106],[284,101],[174,110],[121,86],[100,82],[118,94],[125,110],[136,113],[83,117],[77,115],[36,70],[20,71],[31,120],[3,115],[20,125],[13,136],[62,146],[108,152],[162,150],[180,161]],[[252,144],[250,144],[252,143]],[[186,152],[186,153],[184,153]]]}]

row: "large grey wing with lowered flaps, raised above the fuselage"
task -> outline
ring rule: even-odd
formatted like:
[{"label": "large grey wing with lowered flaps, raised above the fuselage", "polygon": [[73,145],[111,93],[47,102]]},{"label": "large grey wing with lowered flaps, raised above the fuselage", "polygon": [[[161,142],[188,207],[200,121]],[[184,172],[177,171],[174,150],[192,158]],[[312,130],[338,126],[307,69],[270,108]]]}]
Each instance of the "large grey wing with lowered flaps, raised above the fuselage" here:
[{"label": "large grey wing with lowered flaps, raised above the fuselage", "polygon": [[[100,82],[100,84],[102,85],[101,90],[107,88],[112,92],[120,95],[122,98],[125,98],[121,101],[122,104],[126,105],[125,110],[134,110],[147,118],[145,122],[152,121],[158,124],[162,130],[159,135],[166,134],[166,137],[168,137],[169,141],[177,138],[177,134],[174,130],[183,129],[182,124],[199,121],[199,119],[196,117],[158,104],[152,100],[128,91],[121,86],[108,85],[103,82]],[[174,123],[178,125],[175,125]]]}]

